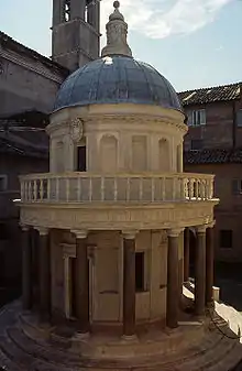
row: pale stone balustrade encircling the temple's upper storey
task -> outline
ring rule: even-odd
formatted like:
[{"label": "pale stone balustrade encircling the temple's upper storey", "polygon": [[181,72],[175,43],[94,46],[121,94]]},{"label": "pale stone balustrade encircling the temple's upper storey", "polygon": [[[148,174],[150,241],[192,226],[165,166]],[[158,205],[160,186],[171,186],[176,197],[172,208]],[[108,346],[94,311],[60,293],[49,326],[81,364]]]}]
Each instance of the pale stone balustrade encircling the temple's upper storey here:
[{"label": "pale stone balustrade encircling the temple's upper storey", "polygon": [[20,177],[21,201],[161,203],[213,198],[213,175],[34,174]]}]

